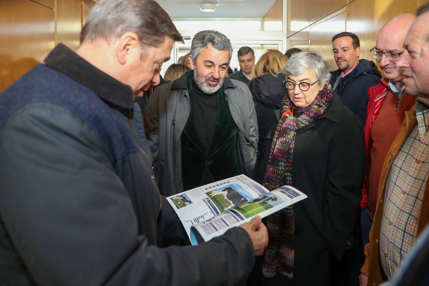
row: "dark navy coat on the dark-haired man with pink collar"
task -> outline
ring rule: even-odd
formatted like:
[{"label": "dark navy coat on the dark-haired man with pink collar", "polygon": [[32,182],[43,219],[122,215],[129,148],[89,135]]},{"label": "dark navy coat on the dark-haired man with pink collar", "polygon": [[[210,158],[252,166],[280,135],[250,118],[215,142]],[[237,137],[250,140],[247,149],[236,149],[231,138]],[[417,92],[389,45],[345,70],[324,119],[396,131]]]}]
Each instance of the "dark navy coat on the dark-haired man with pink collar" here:
[{"label": "dark navy coat on the dark-haired man with pink collar", "polygon": [[[341,77],[341,70],[331,72],[331,86],[334,89],[335,81]],[[345,107],[360,117],[365,124],[366,107],[368,105],[368,89],[380,83],[381,73],[370,60],[361,59],[358,65],[346,75],[342,84],[336,89]]]}]

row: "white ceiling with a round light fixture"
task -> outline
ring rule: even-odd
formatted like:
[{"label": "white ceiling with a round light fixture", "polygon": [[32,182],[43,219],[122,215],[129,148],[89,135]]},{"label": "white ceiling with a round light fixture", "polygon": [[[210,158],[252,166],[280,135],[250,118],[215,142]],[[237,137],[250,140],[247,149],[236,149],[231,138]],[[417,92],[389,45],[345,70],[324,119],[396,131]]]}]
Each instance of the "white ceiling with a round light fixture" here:
[{"label": "white ceiling with a round light fixture", "polygon": [[[275,0],[156,0],[171,18],[262,18]],[[216,4],[215,12],[199,10],[199,4]]]}]

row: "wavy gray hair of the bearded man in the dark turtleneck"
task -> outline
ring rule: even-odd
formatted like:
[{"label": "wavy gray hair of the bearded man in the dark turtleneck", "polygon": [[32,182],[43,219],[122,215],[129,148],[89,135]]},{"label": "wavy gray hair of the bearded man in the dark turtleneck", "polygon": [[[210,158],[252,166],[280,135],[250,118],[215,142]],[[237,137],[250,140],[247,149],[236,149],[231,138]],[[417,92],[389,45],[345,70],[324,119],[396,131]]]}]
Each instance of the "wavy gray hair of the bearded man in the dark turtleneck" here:
[{"label": "wavy gray hair of the bearded man in the dark turtleneck", "polygon": [[210,44],[213,48],[219,51],[229,51],[230,60],[233,55],[233,45],[231,45],[230,39],[227,38],[221,32],[215,30],[203,30],[193,36],[192,43],[190,45],[190,55],[195,63],[196,58],[199,56],[202,48],[207,47]]}]

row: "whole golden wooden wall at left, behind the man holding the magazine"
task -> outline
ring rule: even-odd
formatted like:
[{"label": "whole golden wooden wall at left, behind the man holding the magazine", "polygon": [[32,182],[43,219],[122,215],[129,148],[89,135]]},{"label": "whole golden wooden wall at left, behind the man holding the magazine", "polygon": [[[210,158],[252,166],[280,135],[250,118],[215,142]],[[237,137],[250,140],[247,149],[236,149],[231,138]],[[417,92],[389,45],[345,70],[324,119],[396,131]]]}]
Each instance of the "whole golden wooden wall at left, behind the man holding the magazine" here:
[{"label": "whole golden wooden wall at left, behind the man holding the magazine", "polygon": [[63,42],[76,51],[97,0],[0,0],[0,92]]}]

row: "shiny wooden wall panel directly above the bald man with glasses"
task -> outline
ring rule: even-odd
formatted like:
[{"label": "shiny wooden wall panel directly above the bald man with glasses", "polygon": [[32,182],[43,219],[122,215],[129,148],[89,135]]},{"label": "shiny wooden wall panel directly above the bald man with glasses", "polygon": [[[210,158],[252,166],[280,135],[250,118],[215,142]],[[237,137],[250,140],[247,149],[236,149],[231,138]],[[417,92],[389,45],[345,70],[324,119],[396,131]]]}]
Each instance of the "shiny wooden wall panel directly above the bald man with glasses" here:
[{"label": "shiny wooden wall panel directly above the bald man with glasses", "polygon": [[396,15],[414,13],[417,4],[418,0],[355,0],[348,4],[346,30],[359,37],[360,58],[377,64],[369,50],[375,46],[378,31]]}]

